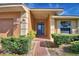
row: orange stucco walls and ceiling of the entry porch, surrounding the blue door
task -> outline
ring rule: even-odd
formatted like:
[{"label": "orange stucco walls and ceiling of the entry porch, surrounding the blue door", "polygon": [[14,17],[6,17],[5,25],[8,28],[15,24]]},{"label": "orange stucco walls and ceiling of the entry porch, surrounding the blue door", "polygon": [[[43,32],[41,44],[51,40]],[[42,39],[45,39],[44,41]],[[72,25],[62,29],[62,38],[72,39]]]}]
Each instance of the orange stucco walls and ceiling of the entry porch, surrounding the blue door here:
[{"label": "orange stucco walls and ceiling of the entry porch, surrounding the blue door", "polygon": [[[44,23],[44,35],[43,37],[50,38],[51,32],[50,32],[50,15],[54,15],[55,12],[50,11],[31,11],[30,17],[31,17],[31,26],[34,31],[37,32],[37,24],[39,22]],[[30,26],[30,25],[29,25]]]}]

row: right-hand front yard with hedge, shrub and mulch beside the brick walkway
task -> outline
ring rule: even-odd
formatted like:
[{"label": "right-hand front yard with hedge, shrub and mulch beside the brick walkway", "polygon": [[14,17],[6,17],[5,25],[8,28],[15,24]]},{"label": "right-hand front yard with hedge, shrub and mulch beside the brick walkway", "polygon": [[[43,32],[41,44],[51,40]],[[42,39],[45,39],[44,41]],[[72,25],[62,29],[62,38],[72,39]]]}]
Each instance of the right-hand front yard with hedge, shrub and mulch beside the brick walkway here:
[{"label": "right-hand front yard with hedge, shrub and mulch beside the brick walkway", "polygon": [[56,47],[48,48],[51,56],[79,56],[79,34],[52,34]]}]

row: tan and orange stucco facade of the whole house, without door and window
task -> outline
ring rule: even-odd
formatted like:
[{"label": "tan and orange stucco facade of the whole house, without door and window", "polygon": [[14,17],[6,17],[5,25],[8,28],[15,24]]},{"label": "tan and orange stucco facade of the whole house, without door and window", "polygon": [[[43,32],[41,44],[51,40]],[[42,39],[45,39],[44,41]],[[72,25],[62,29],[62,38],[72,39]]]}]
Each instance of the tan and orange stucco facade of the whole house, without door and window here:
[{"label": "tan and orange stucco facade of the whole house, without door and window", "polygon": [[[71,21],[72,34],[79,33],[78,16],[57,16],[63,9],[29,9],[24,4],[0,5],[0,27],[6,25],[5,29],[10,29],[13,36],[21,34],[21,23],[26,22],[26,32],[34,30],[37,32],[37,23],[43,22],[45,38],[50,38],[52,33],[61,33],[59,28],[60,21]],[[10,26],[10,28],[8,27]],[[4,27],[2,27],[4,28]],[[1,29],[0,29],[1,32]],[[7,31],[2,35],[7,36]]]}]

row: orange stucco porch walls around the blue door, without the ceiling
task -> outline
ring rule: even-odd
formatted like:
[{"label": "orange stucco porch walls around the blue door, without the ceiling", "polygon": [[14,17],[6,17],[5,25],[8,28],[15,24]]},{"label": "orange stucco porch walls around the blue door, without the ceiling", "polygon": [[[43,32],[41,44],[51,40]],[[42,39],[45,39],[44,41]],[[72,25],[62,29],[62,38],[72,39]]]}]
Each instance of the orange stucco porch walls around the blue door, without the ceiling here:
[{"label": "orange stucco porch walls around the blue door, without the ceiling", "polygon": [[30,29],[34,30],[36,32],[37,32],[37,24],[39,22],[43,22],[44,23],[44,35],[43,35],[43,37],[50,38],[50,18],[49,18],[49,16],[46,19],[42,19],[42,18],[41,19],[35,19],[33,17],[33,15],[30,14],[30,20],[29,21],[31,22],[31,24],[29,23],[30,24],[29,27],[31,27]]}]

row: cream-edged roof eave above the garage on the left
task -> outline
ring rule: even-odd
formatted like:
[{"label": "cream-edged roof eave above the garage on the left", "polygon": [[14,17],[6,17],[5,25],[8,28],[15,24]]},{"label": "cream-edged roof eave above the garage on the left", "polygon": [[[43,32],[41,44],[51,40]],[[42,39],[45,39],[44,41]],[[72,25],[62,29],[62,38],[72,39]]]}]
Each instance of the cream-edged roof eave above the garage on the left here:
[{"label": "cream-edged roof eave above the garage on the left", "polygon": [[14,4],[14,5],[0,5],[0,12],[11,12],[11,11],[27,11],[23,4]]}]

